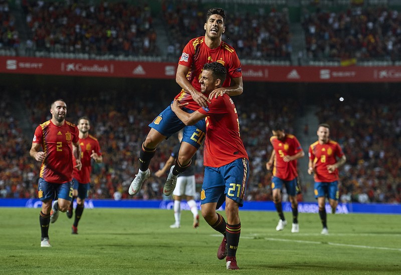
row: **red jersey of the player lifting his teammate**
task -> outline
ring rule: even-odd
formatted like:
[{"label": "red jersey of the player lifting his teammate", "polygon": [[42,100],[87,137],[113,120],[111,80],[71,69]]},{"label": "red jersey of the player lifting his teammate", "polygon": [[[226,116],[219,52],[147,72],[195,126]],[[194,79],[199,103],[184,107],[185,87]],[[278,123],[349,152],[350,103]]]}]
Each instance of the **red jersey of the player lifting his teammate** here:
[{"label": "red jersey of the player lifting his teammate", "polygon": [[206,117],[204,165],[222,167],[248,154],[240,138],[240,122],[233,100],[227,95],[211,100],[208,108],[197,111]]}]

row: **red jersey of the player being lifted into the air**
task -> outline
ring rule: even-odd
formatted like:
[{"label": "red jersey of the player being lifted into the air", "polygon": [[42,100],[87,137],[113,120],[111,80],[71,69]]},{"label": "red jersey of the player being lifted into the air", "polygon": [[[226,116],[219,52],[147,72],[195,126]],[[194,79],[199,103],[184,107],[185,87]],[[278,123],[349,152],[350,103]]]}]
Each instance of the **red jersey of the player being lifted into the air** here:
[{"label": "red jersey of the player being lifted into the air", "polygon": [[[223,87],[229,87],[232,78],[242,77],[241,62],[234,48],[222,42],[216,49],[211,49],[205,44],[204,36],[194,38],[185,45],[178,64],[190,68],[186,78],[196,91],[200,92],[200,75],[204,65],[212,62],[219,62],[227,69],[228,76],[223,83]],[[185,108],[190,110],[199,108],[199,105],[193,101],[192,96],[184,89],[175,98],[178,99],[180,104],[189,103]]]}]

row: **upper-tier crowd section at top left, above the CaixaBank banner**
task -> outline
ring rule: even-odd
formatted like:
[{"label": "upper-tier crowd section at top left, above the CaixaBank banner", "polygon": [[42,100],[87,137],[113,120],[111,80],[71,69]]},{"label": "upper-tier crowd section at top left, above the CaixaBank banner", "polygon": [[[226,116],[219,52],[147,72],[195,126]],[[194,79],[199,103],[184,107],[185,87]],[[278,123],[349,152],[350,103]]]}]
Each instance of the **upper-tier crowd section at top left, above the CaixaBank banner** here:
[{"label": "upper-tier crowd section at top left, above the CaixaBank banner", "polygon": [[36,50],[63,53],[158,55],[147,4],[25,1]]}]

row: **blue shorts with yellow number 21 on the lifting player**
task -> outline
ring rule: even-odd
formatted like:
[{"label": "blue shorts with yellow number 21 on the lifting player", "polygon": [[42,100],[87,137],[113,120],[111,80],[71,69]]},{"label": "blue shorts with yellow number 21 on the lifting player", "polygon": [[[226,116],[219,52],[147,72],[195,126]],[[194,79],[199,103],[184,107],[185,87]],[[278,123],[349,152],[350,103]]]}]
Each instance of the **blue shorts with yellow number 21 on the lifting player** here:
[{"label": "blue shorts with yellow number 21 on the lifting player", "polygon": [[[236,159],[222,167],[206,166],[202,192],[200,192],[200,204],[219,202],[224,194],[242,206],[248,177],[249,164],[246,158]],[[223,202],[221,201],[221,204]]]}]

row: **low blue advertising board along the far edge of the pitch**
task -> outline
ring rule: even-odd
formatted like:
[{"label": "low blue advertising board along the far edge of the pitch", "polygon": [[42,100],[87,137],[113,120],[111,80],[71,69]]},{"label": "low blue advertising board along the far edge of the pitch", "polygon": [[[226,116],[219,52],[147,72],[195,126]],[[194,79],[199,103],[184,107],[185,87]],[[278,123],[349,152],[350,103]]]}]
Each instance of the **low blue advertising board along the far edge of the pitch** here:
[{"label": "low blue advertising board along the far edge of the pitch", "polygon": [[[200,201],[197,201],[200,209]],[[88,199],[85,200],[85,208],[155,208],[172,209],[172,200],[111,200],[111,199]],[[74,207],[76,202],[74,202]],[[26,207],[40,208],[42,202],[39,199],[0,199],[0,207]],[[183,210],[189,210],[185,201],[181,202]],[[219,209],[224,210],[224,205]],[[276,211],[272,201],[246,201],[241,210],[252,211]],[[283,211],[291,212],[291,203],[283,202]],[[326,211],[331,212],[330,204],[326,203]],[[319,207],[316,202],[299,202],[299,213],[318,213]],[[339,203],[336,213],[370,213],[370,214],[401,214],[401,205],[385,203]]]}]

